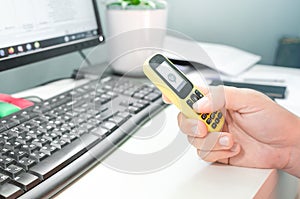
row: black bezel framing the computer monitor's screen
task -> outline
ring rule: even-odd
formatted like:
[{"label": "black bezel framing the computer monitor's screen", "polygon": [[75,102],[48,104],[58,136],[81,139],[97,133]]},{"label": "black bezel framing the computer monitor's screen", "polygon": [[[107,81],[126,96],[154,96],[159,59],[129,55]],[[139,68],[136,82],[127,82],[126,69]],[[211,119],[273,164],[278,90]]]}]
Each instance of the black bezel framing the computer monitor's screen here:
[{"label": "black bezel framing the computer monitor's screen", "polygon": [[93,47],[100,43],[103,43],[105,41],[105,39],[104,39],[103,30],[102,30],[102,26],[101,26],[99,9],[97,6],[97,0],[91,0],[91,1],[93,2],[95,17],[96,17],[97,26],[98,26],[98,37],[92,38],[92,39],[87,39],[85,41],[73,43],[70,45],[58,46],[55,48],[45,49],[40,52],[36,52],[36,53],[28,54],[28,55],[22,55],[20,57],[14,57],[11,59],[2,60],[2,61],[0,61],[0,72],[18,68],[18,67],[22,67],[27,64],[35,63],[38,61],[43,61],[46,59],[54,58],[54,57],[57,57],[60,55],[65,55],[65,54],[68,54],[71,52],[75,52],[75,51],[82,50],[85,48]]}]

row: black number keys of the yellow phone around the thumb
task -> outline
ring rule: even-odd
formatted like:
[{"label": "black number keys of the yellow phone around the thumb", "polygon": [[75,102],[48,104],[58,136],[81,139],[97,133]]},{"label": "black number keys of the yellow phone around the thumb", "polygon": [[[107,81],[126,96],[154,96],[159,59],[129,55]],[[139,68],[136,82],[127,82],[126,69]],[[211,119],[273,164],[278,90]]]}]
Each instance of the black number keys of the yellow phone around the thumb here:
[{"label": "black number keys of the yellow phone around the thumb", "polygon": [[[197,102],[199,99],[204,97],[204,95],[199,91],[195,90],[195,93],[190,95],[190,99],[186,101],[186,103],[193,108],[193,104]],[[217,128],[218,124],[220,123],[220,119],[223,117],[221,112],[215,111],[211,114],[203,113],[201,114],[201,118],[206,122],[206,124],[211,125],[213,129]]]}]

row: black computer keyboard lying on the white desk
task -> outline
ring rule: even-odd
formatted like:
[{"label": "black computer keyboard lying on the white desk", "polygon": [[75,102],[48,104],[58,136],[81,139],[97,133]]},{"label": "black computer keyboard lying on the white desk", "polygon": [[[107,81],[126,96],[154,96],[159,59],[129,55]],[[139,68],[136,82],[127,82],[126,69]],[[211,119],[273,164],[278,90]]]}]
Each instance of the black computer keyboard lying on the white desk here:
[{"label": "black computer keyboard lying on the white desk", "polygon": [[0,198],[53,196],[161,110],[160,97],[153,86],[107,77],[2,118]]}]

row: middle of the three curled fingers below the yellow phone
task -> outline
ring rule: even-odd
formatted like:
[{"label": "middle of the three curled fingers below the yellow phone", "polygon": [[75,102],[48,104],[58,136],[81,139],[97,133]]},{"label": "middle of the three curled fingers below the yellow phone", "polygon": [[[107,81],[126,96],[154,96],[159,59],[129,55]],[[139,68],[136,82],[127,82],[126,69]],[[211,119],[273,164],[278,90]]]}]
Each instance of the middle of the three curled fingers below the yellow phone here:
[{"label": "middle of the three curled fingers below the yellow phone", "polygon": [[204,152],[229,150],[233,146],[233,136],[225,132],[211,132],[205,138],[188,136],[188,141]]}]

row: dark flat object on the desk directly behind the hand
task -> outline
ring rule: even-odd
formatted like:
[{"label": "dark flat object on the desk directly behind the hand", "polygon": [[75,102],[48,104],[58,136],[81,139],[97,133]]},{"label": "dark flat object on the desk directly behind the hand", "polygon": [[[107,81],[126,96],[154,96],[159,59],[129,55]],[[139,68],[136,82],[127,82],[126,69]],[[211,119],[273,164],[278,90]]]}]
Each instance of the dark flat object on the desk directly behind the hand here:
[{"label": "dark flat object on the desk directly behind the hand", "polygon": [[230,82],[230,81],[213,81],[211,85],[225,85],[225,86],[234,86],[237,88],[250,88],[262,92],[269,96],[271,99],[279,98],[284,99],[286,93],[285,86],[271,86],[263,84],[250,84],[244,82]]}]

